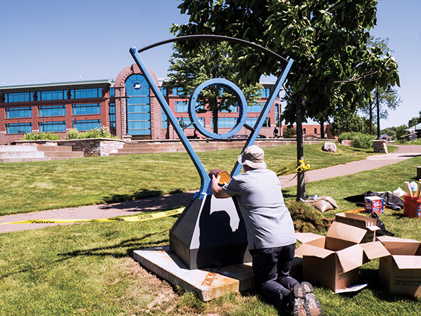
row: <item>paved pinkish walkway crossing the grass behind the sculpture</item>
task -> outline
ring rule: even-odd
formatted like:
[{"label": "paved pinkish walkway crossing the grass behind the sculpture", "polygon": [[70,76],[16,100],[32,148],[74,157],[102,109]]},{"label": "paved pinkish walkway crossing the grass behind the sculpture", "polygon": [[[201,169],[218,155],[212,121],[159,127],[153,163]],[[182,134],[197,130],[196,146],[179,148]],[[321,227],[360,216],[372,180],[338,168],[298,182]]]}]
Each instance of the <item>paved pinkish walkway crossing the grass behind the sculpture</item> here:
[{"label": "paved pinkish walkway crossing the grass behind the sculpture", "polygon": [[[399,145],[399,149],[392,154],[375,154],[366,159],[356,162],[348,162],[338,166],[330,166],[324,169],[307,171],[307,182],[323,180],[326,178],[334,178],[345,176],[347,174],[356,173],[375,169],[380,166],[402,162],[403,160],[421,156],[421,145]],[[416,171],[414,171],[416,172]],[[282,187],[290,187],[296,185],[296,180],[290,180],[294,175],[281,176]],[[93,218],[109,218],[114,216],[133,215],[140,211],[153,211],[159,209],[175,209],[185,206],[194,192],[177,193],[174,195],[166,195],[163,197],[151,197],[140,199],[137,201],[122,202],[118,204],[102,204],[81,206],[69,209],[58,209],[52,211],[41,211],[35,213],[25,213],[10,216],[1,216],[0,223],[18,222],[21,220],[32,219],[93,219]],[[69,225],[69,224],[11,224],[0,225],[1,232],[13,232],[18,230],[30,230],[42,228],[52,225]]]}]

